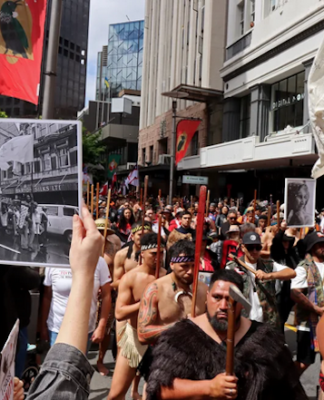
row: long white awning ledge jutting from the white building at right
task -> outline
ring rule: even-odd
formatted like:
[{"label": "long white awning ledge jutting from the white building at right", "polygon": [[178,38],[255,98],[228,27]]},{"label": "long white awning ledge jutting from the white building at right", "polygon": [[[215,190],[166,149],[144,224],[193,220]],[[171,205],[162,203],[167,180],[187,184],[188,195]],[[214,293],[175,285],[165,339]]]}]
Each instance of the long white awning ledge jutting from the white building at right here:
[{"label": "long white awning ledge jutting from the white building at right", "polygon": [[318,159],[311,133],[273,134],[260,142],[258,136],[225,142],[200,149],[200,156],[186,157],[178,170],[216,168],[218,170],[278,168],[312,165]]}]

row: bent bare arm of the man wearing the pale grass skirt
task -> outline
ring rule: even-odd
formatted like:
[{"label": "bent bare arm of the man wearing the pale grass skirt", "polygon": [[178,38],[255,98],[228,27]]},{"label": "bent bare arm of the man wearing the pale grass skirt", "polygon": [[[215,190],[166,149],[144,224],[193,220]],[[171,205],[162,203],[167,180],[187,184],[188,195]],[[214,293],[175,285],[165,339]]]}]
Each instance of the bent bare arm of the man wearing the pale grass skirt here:
[{"label": "bent bare arm of the man wearing the pale grass skirt", "polygon": [[116,302],[115,316],[117,321],[125,321],[138,313],[140,302],[132,304],[132,282],[124,275],[120,281]]}]

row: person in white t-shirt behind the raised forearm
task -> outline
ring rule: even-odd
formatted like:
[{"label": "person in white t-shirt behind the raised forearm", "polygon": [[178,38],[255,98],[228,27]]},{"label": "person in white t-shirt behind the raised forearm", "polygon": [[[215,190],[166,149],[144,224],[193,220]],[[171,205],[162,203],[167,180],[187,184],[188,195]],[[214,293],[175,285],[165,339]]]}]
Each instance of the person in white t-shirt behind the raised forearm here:
[{"label": "person in white t-shirt behind the raised forearm", "polygon": [[[111,276],[105,260],[100,257],[94,274],[94,288],[88,327],[88,348],[91,341],[101,343],[105,337],[111,307]],[[71,292],[72,271],[67,268],[46,268],[42,303],[41,338],[54,345],[59,333]],[[102,307],[98,326],[96,314],[98,291],[101,289]]]}]

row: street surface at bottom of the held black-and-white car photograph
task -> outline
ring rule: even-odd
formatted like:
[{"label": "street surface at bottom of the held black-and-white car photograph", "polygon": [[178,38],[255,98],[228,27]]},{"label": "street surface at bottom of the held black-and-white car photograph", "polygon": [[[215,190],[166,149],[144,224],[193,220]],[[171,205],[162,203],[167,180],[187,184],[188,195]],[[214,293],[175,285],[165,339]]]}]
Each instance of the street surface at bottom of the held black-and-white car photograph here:
[{"label": "street surface at bottom of the held black-and-white car photograph", "polygon": [[42,264],[68,264],[70,246],[64,238],[50,235],[48,243],[41,246],[37,235],[34,239],[34,251],[23,250],[20,236],[2,234],[0,236],[0,260],[6,262],[26,262]]}]

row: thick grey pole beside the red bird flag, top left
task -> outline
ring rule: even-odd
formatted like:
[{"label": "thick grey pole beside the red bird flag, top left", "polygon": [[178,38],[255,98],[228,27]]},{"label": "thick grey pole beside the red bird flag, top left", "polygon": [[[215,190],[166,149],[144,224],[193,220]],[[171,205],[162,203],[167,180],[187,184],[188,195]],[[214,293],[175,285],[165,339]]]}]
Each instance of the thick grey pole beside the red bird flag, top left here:
[{"label": "thick grey pole beside the red bird flag, top left", "polygon": [[57,58],[60,40],[62,8],[63,0],[52,0],[42,112],[44,119],[54,118]]}]

